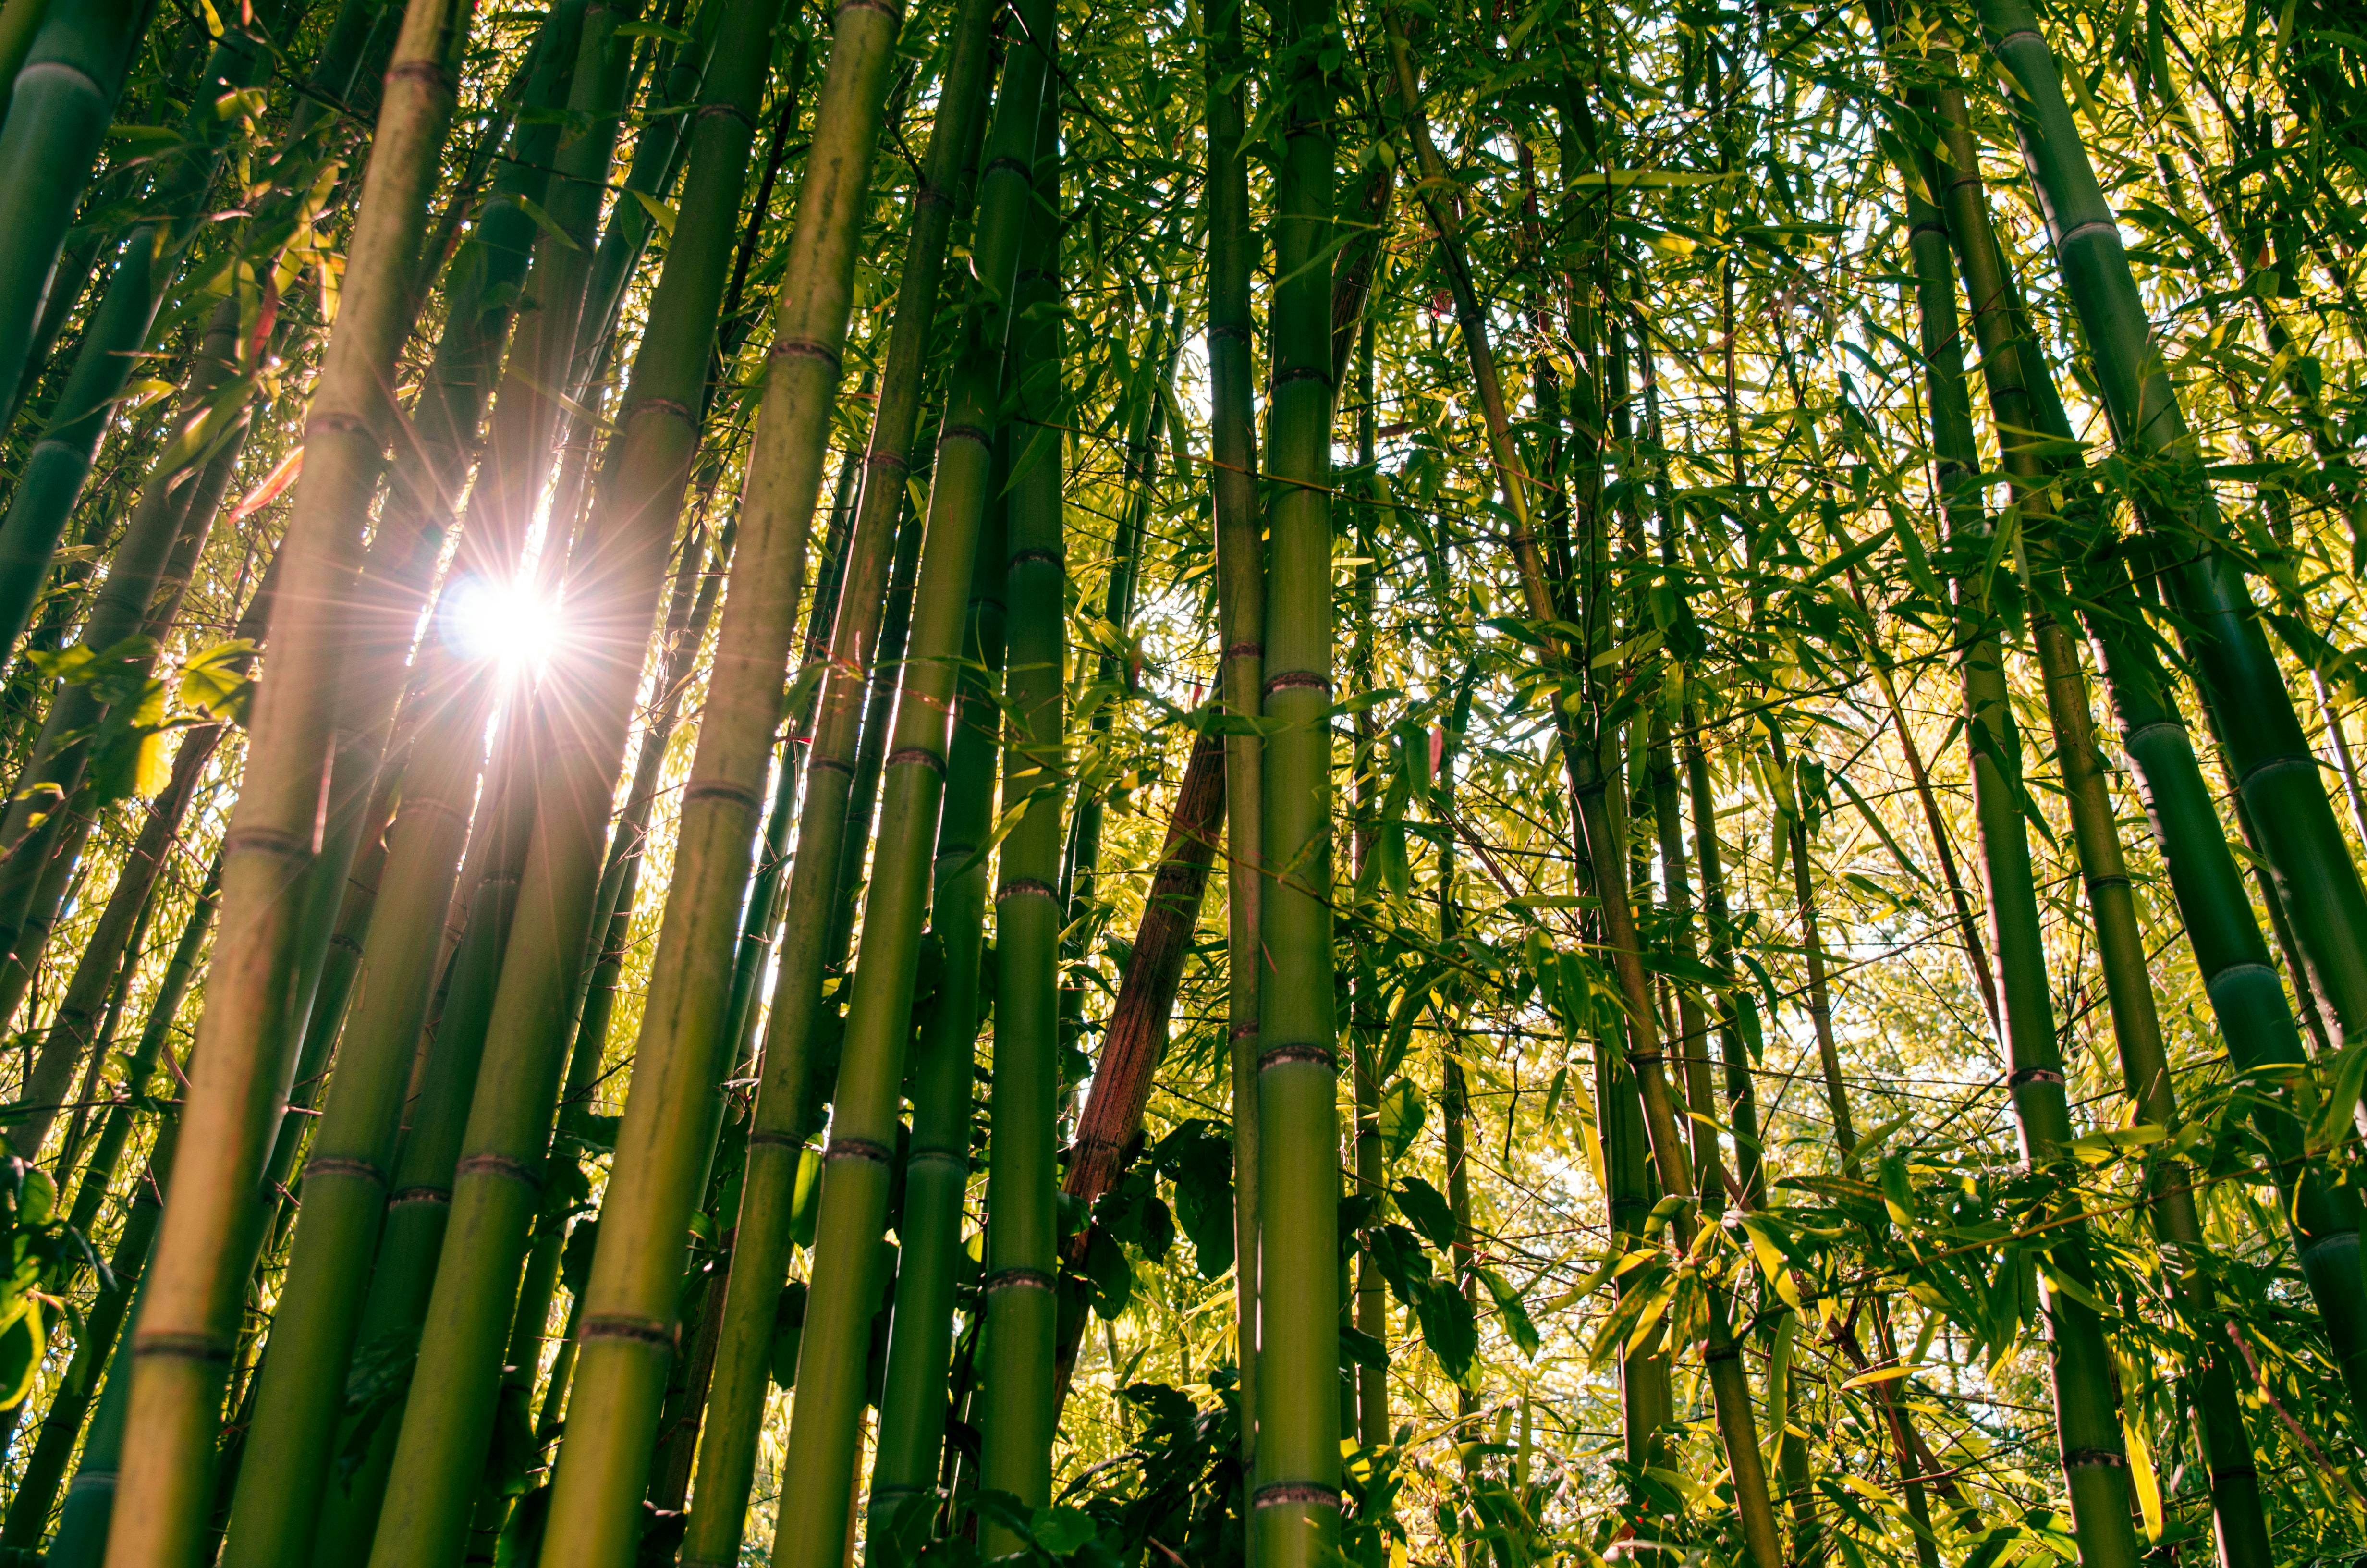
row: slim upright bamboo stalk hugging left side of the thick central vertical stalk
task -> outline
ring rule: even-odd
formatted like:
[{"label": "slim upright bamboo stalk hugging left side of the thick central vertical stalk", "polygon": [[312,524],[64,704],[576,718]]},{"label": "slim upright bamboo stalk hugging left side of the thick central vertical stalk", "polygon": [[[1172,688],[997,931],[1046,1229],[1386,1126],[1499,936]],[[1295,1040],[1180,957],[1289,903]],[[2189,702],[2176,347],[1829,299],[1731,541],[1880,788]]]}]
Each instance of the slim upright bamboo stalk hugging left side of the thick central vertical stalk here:
[{"label": "slim upright bamboo stalk hugging left side of the thick central vertical stalk", "polygon": [[1257,905],[1264,893],[1262,760],[1266,559],[1259,523],[1250,163],[1243,156],[1240,0],[1207,14],[1207,384],[1210,502],[1217,533],[1217,663],[1224,703],[1226,1056],[1233,1106],[1233,1360],[1240,1371],[1240,1511],[1257,1461]]}]

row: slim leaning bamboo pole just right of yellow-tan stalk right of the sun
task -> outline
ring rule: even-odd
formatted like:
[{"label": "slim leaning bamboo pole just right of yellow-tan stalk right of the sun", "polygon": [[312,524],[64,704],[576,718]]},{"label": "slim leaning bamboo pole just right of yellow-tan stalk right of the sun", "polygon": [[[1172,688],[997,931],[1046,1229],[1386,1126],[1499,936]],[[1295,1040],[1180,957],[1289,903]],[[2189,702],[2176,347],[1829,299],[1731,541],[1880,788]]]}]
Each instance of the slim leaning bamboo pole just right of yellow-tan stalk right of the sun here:
[{"label": "slim leaning bamboo pole just right of yellow-tan stalk right of the sun", "polygon": [[[765,1037],[762,1082],[750,1116],[741,1203],[734,1222],[734,1267],[724,1298],[722,1338],[708,1388],[698,1478],[684,1566],[722,1568],[739,1561],[755,1478],[755,1445],[765,1421],[774,1312],[788,1274],[788,1220],[798,1168],[812,1132],[814,1023],[821,971],[838,926],[838,876],[850,815],[850,782],[864,715],[864,687],[881,640],[883,592],[897,554],[897,514],[907,497],[911,441],[921,417],[921,386],[944,277],[947,234],[959,204],[959,178],[985,118],[994,9],[966,0],[954,21],[952,54],[937,99],[921,185],[911,199],[911,239],[897,284],[888,365],[881,374],[864,486],[847,535],[831,663],[821,677],[814,741],[805,767],[798,850],[788,872],[779,969]],[[918,523],[911,523],[918,531]],[[864,805],[869,822],[869,805]]]}]

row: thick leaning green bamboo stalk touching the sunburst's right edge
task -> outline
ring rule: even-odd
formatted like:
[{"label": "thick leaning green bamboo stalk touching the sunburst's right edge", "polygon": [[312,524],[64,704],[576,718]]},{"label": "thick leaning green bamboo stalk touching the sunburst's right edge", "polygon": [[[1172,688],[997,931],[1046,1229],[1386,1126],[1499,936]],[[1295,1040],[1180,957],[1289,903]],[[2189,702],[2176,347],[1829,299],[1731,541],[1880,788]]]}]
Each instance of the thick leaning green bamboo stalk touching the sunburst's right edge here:
[{"label": "thick leaning green bamboo stalk touching the sunburst's right edge", "polygon": [[[421,1362],[393,1452],[393,1473],[405,1485],[388,1492],[374,1563],[440,1563],[459,1554],[490,1442],[499,1360],[573,1037],[570,1002],[587,964],[608,801],[694,455],[689,410],[729,263],[772,12],[743,7],[724,26],[727,64],[705,90],[724,114],[701,118],[684,192],[684,213],[701,218],[677,223],[627,393],[620,460],[568,585],[568,613],[582,632],[570,661],[554,666],[544,701],[575,746],[535,786],[542,805],[523,867],[521,919],[488,1021]],[[646,1461],[646,1445],[641,1452]]]}]

